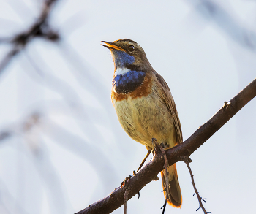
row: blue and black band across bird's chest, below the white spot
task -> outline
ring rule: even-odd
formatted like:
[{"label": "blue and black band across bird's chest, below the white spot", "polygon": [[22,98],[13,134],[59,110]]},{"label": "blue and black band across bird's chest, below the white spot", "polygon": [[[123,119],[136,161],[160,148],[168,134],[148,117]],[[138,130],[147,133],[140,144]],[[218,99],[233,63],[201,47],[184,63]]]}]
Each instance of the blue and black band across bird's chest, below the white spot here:
[{"label": "blue and black band across bird's chest, below the white spot", "polygon": [[145,72],[129,71],[125,74],[116,75],[113,77],[113,88],[116,93],[129,93],[134,91],[144,81]]}]

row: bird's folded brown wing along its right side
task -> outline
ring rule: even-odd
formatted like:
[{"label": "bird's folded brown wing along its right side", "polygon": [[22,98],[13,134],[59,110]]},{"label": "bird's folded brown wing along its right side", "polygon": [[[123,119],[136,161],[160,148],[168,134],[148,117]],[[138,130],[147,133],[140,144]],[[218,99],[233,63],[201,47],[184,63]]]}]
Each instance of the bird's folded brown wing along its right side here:
[{"label": "bird's folded brown wing along its right side", "polygon": [[173,116],[173,123],[176,129],[176,139],[177,144],[183,142],[182,131],[181,131],[181,122],[178,118],[178,112],[176,109],[176,105],[173,99],[172,94],[170,93],[170,88],[165,82],[164,78],[153,70],[154,75],[157,77],[157,80],[162,85],[162,99],[164,99],[165,104],[167,105],[170,114]]}]

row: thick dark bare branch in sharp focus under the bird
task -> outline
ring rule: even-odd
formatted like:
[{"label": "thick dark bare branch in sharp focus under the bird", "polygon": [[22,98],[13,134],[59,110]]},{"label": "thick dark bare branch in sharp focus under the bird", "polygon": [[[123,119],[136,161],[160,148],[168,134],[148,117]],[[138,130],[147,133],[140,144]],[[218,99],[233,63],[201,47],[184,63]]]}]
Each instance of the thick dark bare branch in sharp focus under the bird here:
[{"label": "thick dark bare branch in sharp focus under the bird", "polygon": [[[230,118],[233,117],[244,105],[256,96],[256,79],[238,93],[230,102],[225,102],[221,109],[203,126],[200,126],[192,136],[176,147],[166,150],[169,164],[172,165],[181,161],[182,156],[190,156],[200,145],[203,145],[216,131],[218,131]],[[128,199],[138,194],[138,192],[150,183],[151,180],[162,171],[165,164],[164,157],[157,155],[154,159],[146,164],[143,169],[129,179],[129,196]],[[104,199],[95,202],[89,207],[76,214],[92,214],[92,213],[111,213],[124,204],[125,188],[118,187],[110,195]]]}]

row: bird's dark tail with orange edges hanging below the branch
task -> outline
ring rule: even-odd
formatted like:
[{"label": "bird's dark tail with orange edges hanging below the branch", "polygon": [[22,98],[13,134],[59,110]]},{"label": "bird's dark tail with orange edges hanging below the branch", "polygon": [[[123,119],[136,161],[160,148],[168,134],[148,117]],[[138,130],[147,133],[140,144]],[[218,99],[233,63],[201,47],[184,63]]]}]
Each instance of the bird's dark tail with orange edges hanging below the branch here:
[{"label": "bird's dark tail with orange edges hanging below the branch", "polygon": [[166,191],[169,192],[169,199],[167,199],[167,202],[169,205],[173,207],[181,207],[182,204],[182,196],[181,196],[181,188],[178,183],[178,174],[177,174],[177,169],[176,169],[176,164],[173,164],[172,166],[168,167],[168,189],[165,190],[165,169],[162,170],[161,175],[162,175],[162,187],[164,188],[164,194],[166,198]]}]

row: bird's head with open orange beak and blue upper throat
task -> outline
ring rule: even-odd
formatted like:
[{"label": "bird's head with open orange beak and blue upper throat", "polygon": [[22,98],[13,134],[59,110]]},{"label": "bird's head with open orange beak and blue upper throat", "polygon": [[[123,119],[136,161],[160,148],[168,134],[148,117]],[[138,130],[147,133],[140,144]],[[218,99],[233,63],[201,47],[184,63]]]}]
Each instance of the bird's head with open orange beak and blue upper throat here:
[{"label": "bird's head with open orange beak and blue upper throat", "polygon": [[111,51],[116,69],[146,70],[151,65],[142,47],[130,39],[118,39],[115,42],[105,42],[104,47]]}]

